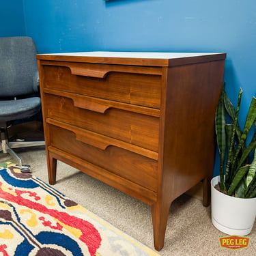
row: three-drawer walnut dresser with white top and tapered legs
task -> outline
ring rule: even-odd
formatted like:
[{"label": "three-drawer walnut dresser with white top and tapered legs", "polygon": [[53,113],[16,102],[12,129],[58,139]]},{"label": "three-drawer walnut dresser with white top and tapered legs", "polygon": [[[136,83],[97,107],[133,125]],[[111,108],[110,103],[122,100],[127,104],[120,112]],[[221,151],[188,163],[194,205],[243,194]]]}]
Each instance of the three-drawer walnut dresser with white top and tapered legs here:
[{"label": "three-drawer walnut dresser with white top and tapered legs", "polygon": [[61,160],[150,204],[160,251],[174,199],[203,180],[203,205],[210,203],[225,57],[37,55],[49,183]]}]

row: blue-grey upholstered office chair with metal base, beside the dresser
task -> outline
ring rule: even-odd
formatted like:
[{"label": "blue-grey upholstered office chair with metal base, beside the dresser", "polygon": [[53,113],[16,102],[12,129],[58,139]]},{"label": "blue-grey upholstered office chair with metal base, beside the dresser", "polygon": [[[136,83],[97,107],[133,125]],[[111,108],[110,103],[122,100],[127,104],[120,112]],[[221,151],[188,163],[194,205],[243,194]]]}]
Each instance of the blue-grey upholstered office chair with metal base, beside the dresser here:
[{"label": "blue-grey upholstered office chair with metal base, beside the dresser", "polygon": [[36,53],[32,38],[0,38],[0,151],[10,153],[17,165],[22,160],[12,148],[44,145],[44,141],[8,142],[7,132],[10,122],[41,110]]}]

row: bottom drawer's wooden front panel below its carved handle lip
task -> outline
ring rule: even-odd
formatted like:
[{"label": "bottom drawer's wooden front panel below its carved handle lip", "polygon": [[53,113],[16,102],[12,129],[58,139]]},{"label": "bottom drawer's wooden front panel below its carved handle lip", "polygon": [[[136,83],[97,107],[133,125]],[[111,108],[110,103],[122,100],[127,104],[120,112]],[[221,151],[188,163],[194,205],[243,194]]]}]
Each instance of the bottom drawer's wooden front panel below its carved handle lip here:
[{"label": "bottom drawer's wooden front panel below its carved handle lip", "polygon": [[53,125],[48,125],[48,134],[49,145],[156,191],[158,161],[115,146],[100,150],[77,141],[73,132]]}]

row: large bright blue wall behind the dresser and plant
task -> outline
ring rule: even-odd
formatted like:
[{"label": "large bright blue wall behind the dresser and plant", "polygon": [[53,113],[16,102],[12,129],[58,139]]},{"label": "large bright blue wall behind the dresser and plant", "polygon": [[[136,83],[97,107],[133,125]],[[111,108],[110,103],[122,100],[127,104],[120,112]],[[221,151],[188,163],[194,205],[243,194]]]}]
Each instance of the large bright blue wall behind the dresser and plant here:
[{"label": "large bright blue wall behind the dresser and plant", "polygon": [[225,81],[234,104],[244,89],[242,121],[256,96],[255,0],[23,0],[23,5],[26,33],[40,53],[225,52]]}]

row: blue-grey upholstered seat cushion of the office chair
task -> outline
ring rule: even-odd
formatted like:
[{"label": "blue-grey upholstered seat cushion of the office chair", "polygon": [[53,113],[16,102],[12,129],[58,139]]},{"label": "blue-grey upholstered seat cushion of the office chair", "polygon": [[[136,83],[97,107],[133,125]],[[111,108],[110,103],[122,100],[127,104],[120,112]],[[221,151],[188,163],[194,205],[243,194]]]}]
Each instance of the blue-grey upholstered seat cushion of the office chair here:
[{"label": "blue-grey upholstered seat cushion of the office chair", "polygon": [[20,100],[0,100],[0,121],[31,117],[41,109],[39,97],[25,98]]}]

